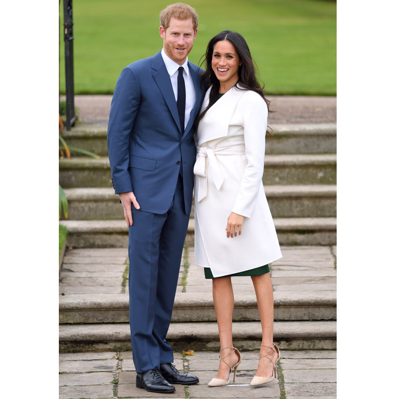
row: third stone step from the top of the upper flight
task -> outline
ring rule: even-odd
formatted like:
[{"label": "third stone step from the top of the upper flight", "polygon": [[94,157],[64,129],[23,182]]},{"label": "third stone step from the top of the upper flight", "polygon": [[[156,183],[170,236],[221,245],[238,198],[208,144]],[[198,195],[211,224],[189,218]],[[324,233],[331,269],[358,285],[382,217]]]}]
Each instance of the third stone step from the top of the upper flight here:
[{"label": "third stone step from the top of the upper flight", "polygon": [[[274,217],[329,217],[337,213],[337,186],[265,186]],[[113,188],[65,189],[71,220],[118,220],[123,218],[119,196]],[[194,200],[193,200],[194,202]],[[194,206],[192,209],[194,217]]]}]

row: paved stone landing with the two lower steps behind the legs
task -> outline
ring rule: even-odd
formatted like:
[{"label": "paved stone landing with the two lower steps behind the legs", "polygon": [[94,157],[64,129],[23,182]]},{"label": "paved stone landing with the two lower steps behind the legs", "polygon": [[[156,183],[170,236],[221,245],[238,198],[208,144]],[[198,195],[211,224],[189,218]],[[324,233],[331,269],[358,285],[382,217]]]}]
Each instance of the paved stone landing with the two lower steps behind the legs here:
[{"label": "paved stone landing with the two lower steps behind the legs", "polygon": [[[282,246],[270,266],[274,340],[281,349],[335,349],[335,246]],[[66,252],[60,273],[60,351],[130,350],[127,249]],[[259,348],[261,327],[250,277],[233,279],[234,345]],[[175,351],[217,349],[211,280],[195,265],[194,248],[181,262],[168,341]]]}]

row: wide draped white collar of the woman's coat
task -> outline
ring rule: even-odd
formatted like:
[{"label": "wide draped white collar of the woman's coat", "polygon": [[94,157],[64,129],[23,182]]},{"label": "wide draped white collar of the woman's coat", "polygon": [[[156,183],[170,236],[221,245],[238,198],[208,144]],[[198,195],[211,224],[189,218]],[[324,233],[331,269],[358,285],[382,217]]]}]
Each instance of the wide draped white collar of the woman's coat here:
[{"label": "wide draped white collar of the woman's coat", "polygon": [[[242,86],[237,85],[242,88]],[[209,93],[211,87],[206,91],[200,112],[209,104]],[[241,98],[244,90],[239,90],[233,86],[221,98],[219,98],[207,111],[201,119],[198,126],[198,145],[225,137],[228,134],[228,124],[235,110],[238,100]]]}]

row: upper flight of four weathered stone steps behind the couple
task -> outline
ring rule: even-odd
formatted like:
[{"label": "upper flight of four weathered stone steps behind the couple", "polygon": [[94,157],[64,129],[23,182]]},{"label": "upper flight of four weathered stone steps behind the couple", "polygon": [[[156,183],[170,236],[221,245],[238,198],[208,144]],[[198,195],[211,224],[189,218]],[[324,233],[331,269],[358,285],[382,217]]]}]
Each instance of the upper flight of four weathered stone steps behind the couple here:
[{"label": "upper flight of four weathered stone steps behind the couple", "polygon": [[[267,136],[263,183],[282,245],[336,243],[336,125],[274,125]],[[128,229],[111,183],[107,126],[83,125],[64,133],[70,146],[100,159],[75,157],[59,164],[70,215],[62,220],[74,247],[125,247]],[[99,218],[100,216],[100,218]],[[193,213],[192,213],[192,217]],[[191,220],[186,243],[194,239]]]}]

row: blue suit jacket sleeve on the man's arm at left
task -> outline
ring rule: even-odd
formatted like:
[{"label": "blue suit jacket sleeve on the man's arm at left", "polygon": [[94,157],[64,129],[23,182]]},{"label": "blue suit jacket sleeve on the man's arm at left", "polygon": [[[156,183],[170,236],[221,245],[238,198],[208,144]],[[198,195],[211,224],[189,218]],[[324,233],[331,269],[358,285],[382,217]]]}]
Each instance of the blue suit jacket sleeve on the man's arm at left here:
[{"label": "blue suit jacket sleeve on the man's arm at left", "polygon": [[115,194],[132,191],[129,175],[129,137],[140,107],[140,84],[135,70],[127,66],[115,86],[109,114],[107,145]]}]

